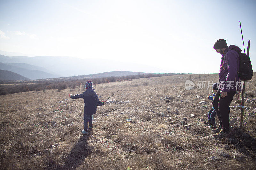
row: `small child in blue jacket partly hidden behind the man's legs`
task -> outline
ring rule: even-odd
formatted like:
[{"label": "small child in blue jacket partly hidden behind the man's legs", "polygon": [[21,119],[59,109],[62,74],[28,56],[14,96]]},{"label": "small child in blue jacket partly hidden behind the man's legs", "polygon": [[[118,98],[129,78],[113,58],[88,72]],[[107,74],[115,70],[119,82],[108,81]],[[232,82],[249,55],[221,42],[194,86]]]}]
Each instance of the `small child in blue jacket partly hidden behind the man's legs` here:
[{"label": "small child in blue jacket partly hidden behind the man's legs", "polygon": [[[208,96],[207,98],[209,100],[213,100],[213,98],[215,96],[215,93],[217,92],[218,88],[219,88],[219,83],[214,83],[212,85],[213,96]],[[214,107],[212,107],[211,110],[208,112],[208,120],[205,121],[204,124],[211,126],[211,128],[217,128],[216,122],[215,122],[215,116],[216,116],[216,112],[214,110]]]}]

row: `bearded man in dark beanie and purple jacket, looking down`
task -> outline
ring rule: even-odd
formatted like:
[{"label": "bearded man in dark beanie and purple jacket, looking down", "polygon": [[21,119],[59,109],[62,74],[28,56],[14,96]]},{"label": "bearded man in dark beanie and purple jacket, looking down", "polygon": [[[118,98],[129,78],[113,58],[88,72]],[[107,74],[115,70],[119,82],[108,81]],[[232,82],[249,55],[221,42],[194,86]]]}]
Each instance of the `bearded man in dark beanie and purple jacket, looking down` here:
[{"label": "bearded man in dark beanie and purple jacket, looking down", "polygon": [[[219,89],[212,101],[216,114],[220,120],[218,128],[213,129],[215,138],[227,137],[229,134],[229,105],[236,94],[239,81],[239,54],[241,49],[235,45],[227,46],[226,40],[219,39],[213,48],[222,55],[219,73]],[[238,52],[237,52],[238,51]]]}]

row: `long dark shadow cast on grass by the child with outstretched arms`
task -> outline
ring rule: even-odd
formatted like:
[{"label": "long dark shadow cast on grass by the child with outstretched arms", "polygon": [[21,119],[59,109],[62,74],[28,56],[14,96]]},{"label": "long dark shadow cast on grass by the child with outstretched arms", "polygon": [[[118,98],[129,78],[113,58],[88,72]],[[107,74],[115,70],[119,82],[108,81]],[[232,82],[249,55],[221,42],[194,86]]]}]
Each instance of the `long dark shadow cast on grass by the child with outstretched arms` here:
[{"label": "long dark shadow cast on grass by the child with outstretched arms", "polygon": [[81,137],[77,144],[72,147],[62,169],[76,169],[84,162],[89,152],[87,139],[88,136]]}]

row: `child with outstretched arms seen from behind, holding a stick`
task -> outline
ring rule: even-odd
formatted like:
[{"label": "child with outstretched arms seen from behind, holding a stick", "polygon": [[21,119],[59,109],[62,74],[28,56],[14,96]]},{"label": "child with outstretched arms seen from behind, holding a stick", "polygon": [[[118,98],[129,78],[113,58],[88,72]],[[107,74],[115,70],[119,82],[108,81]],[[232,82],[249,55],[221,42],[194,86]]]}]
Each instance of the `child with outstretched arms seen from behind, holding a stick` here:
[{"label": "child with outstretched arms seen from behind, holding a stick", "polygon": [[76,94],[72,96],[69,94],[71,99],[84,99],[84,130],[81,132],[83,134],[88,133],[88,122],[89,122],[89,130],[92,130],[92,115],[96,113],[97,106],[102,106],[105,103],[99,101],[99,97],[95,92],[95,89],[92,88],[93,83],[91,81],[87,81],[85,84],[86,91],[82,94]]}]

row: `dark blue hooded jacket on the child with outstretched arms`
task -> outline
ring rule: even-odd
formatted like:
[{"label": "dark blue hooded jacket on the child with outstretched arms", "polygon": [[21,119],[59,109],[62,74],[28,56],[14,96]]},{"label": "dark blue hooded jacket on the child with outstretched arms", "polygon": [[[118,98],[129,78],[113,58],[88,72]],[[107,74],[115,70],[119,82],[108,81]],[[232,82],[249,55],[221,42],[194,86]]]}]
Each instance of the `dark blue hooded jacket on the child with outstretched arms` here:
[{"label": "dark blue hooded jacket on the child with outstretched arms", "polygon": [[96,113],[97,106],[102,106],[105,103],[99,101],[98,94],[95,92],[95,89],[86,89],[82,94],[76,94],[74,96],[70,96],[71,99],[84,99],[84,114],[93,115]]}]

